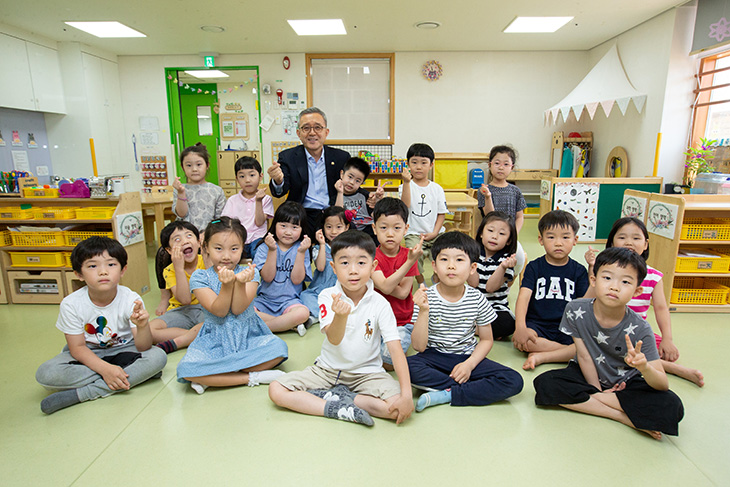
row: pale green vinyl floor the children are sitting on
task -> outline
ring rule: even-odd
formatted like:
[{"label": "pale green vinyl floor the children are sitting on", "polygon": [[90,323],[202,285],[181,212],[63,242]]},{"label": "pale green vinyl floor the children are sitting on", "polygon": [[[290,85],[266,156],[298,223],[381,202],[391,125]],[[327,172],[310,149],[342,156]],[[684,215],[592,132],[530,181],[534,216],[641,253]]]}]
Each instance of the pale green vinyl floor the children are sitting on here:
[{"label": "pale green vinyl floor the children are sitting on", "polygon": [[[527,220],[520,241],[530,259],[542,255],[536,235],[537,221]],[[586,248],[572,257],[582,263]],[[156,289],[144,296],[151,310],[158,300]],[[524,356],[509,342],[489,357],[522,373],[521,394],[486,407],[432,407],[400,426],[282,410],[266,386],[199,396],[176,381],[184,351],[169,355],[160,380],[46,416],[39,404],[48,392],[34,374],[64,345],[57,313],[0,306],[3,486],[730,485],[728,315],[672,314],[679,360],[700,369],[706,385],[670,376],[685,417],[678,437],[655,441],[610,420],[537,408],[532,379],[557,366],[522,371]],[[281,336],[285,371],[311,364],[323,340],[316,327]]]}]

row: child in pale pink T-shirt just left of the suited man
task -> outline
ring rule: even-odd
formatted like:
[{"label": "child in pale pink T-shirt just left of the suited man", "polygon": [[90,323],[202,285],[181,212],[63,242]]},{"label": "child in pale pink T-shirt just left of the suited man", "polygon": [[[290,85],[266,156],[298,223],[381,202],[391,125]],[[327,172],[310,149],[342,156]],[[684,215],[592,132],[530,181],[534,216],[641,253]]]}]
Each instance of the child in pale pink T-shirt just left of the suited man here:
[{"label": "child in pale pink T-shirt just left of the suited man", "polygon": [[274,218],[274,203],[265,189],[259,189],[264,177],[259,161],[243,156],[236,161],[233,168],[236,170],[236,181],[241,191],[228,198],[221,216],[238,218],[246,228],[244,257],[253,258],[253,250],[266,236],[267,222]]}]

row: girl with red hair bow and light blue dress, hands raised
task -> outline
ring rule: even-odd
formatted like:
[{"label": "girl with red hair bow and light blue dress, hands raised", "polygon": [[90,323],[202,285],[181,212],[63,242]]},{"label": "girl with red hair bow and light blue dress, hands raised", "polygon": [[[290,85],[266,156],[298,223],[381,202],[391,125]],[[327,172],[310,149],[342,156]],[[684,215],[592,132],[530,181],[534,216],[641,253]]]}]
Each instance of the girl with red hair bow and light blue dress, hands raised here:
[{"label": "girl with red hair bow and light blue dress, hands raised", "polygon": [[321,230],[317,230],[315,238],[319,245],[312,249],[314,258],[314,277],[309,287],[305,289],[300,298],[309,308],[309,316],[312,323],[319,321],[319,293],[332,287],[337,283],[337,276],[332,270],[332,254],[330,242],[342,232],[350,229],[350,223],[345,216],[345,209],[341,206],[330,206],[322,214],[324,224]]}]

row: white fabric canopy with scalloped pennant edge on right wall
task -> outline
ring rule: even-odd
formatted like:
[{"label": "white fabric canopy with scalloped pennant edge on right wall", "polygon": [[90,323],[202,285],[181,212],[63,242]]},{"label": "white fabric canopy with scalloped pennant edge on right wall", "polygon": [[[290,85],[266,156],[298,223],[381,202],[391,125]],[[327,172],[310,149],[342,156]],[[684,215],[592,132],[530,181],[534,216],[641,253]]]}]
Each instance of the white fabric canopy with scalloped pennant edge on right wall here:
[{"label": "white fabric canopy with scalloped pennant edge on right wall", "polygon": [[545,122],[557,123],[558,114],[563,116],[563,121],[566,121],[571,110],[575,114],[575,118],[580,120],[584,108],[593,120],[598,105],[603,108],[607,117],[611,114],[614,104],[618,105],[621,114],[625,115],[629,102],[632,100],[636,109],[641,113],[646,103],[646,94],[636,91],[626,77],[614,44],[568,96],[563,98],[560,103],[545,110]]}]

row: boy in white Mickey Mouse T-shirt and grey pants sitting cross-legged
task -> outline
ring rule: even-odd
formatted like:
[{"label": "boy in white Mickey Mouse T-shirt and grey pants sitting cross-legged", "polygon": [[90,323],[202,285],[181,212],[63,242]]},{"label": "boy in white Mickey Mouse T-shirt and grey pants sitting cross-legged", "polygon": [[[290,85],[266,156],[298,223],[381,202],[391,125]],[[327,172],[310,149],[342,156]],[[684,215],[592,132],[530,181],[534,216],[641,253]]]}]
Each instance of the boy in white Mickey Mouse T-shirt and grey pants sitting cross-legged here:
[{"label": "boy in white Mickey Mouse T-shirt and grey pants sitting cross-legged", "polygon": [[71,264],[86,286],[61,302],[56,328],[67,345],[36,372],[42,386],[64,389],[41,401],[46,414],[161,377],[167,363],[152,346],[142,298],[119,285],[127,270],[122,244],[90,237],[74,248]]}]

